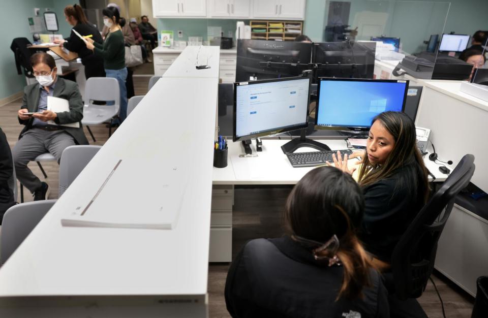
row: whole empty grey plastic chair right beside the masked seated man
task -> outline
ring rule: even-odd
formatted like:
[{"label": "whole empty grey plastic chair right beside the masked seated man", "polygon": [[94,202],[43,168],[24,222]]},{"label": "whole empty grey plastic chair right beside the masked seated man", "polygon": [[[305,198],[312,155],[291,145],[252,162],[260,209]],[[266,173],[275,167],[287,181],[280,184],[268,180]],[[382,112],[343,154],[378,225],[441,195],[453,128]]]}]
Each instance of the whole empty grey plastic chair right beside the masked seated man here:
[{"label": "whole empty grey plastic chair right beside the masked seated man", "polygon": [[[96,140],[88,125],[110,120],[108,137],[112,136],[112,120],[118,117],[120,112],[120,89],[117,80],[110,77],[90,77],[85,84],[84,99],[86,104],[83,107],[81,123],[86,125],[93,141]],[[114,101],[114,104],[95,105],[93,101]]]}]

